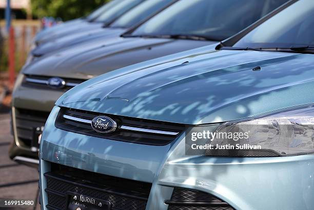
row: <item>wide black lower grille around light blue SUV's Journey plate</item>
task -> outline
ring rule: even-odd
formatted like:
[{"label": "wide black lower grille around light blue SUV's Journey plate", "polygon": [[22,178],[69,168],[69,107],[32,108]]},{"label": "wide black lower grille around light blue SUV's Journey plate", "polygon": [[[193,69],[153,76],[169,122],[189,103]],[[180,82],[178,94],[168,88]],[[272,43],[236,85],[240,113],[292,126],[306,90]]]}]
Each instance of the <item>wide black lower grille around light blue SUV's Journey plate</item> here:
[{"label": "wide black lower grille around light blue SUV's Journey plate", "polygon": [[145,209],[151,184],[102,175],[51,163],[45,173],[48,195],[47,208],[65,209],[66,193],[72,192],[110,201],[112,209]]}]

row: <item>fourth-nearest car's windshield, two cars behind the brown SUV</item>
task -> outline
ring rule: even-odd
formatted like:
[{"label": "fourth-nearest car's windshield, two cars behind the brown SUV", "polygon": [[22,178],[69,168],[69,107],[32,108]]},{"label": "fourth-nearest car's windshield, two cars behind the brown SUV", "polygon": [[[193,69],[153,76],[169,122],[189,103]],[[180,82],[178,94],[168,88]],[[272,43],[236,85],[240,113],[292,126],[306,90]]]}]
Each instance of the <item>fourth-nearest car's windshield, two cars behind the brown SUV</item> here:
[{"label": "fourth-nearest car's windshield, two cars behind the brown SUV", "polygon": [[104,12],[99,17],[97,17],[95,19],[95,22],[109,24],[117,17],[120,17],[122,14],[129,11],[141,2],[143,2],[143,0],[124,0],[122,2],[119,2],[118,4],[110,8],[110,10]]}]

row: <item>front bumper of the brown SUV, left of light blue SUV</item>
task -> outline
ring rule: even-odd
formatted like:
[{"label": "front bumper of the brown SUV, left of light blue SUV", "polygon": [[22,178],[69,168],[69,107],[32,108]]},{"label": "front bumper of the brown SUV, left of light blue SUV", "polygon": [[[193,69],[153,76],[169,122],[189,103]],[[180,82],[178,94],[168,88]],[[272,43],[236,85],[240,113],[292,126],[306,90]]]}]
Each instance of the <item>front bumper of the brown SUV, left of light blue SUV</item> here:
[{"label": "front bumper of the brown SUV, left of light blue SUV", "polygon": [[[11,159],[34,165],[38,163],[38,137],[49,112],[64,91],[25,87],[17,82],[12,96]],[[22,113],[23,112],[23,113]]]}]

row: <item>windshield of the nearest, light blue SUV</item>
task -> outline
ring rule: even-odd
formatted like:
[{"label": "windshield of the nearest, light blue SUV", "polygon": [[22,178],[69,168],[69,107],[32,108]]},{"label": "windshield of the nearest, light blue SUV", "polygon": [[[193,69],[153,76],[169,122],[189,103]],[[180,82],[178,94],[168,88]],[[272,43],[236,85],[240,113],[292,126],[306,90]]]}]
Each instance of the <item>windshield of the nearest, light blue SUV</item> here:
[{"label": "windshield of the nearest, light blue SUV", "polygon": [[301,0],[269,18],[233,47],[291,48],[314,46],[314,1]]}]

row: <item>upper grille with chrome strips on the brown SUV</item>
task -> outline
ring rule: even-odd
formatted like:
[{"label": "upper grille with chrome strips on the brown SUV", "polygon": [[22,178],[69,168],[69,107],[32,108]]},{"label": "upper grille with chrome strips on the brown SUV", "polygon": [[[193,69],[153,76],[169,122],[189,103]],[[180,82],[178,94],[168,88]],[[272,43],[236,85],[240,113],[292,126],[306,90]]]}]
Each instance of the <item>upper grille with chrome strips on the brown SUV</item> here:
[{"label": "upper grille with chrome strips on the brown SUV", "polygon": [[[22,85],[25,87],[51,90],[51,87],[47,85],[48,80],[50,78],[51,77],[49,76],[25,75],[25,79]],[[62,78],[62,79],[65,81],[65,87],[61,89],[56,89],[56,90],[67,91],[79,85],[80,83],[86,81],[84,79],[70,79],[70,78]]]}]

